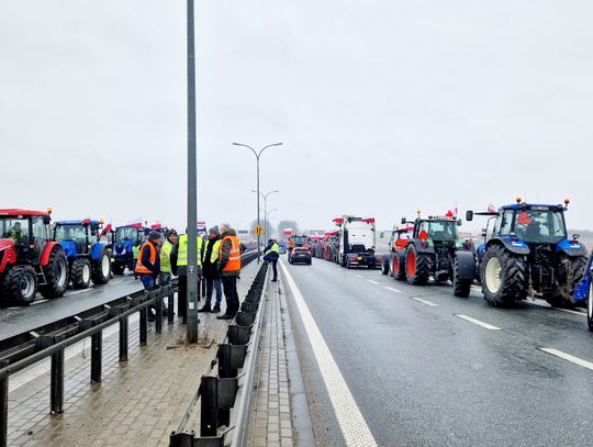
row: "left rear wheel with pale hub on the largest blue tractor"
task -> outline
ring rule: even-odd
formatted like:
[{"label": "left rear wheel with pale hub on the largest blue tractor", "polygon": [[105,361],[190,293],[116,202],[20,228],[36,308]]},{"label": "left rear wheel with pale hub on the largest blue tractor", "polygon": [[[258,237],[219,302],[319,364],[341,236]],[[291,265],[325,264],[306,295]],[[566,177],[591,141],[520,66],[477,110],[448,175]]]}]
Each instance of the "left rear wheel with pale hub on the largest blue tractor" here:
[{"label": "left rear wheel with pale hub on the largest blue tractor", "polygon": [[511,306],[527,297],[527,262],[524,256],[513,255],[494,245],[480,265],[482,292],[493,306]]}]

